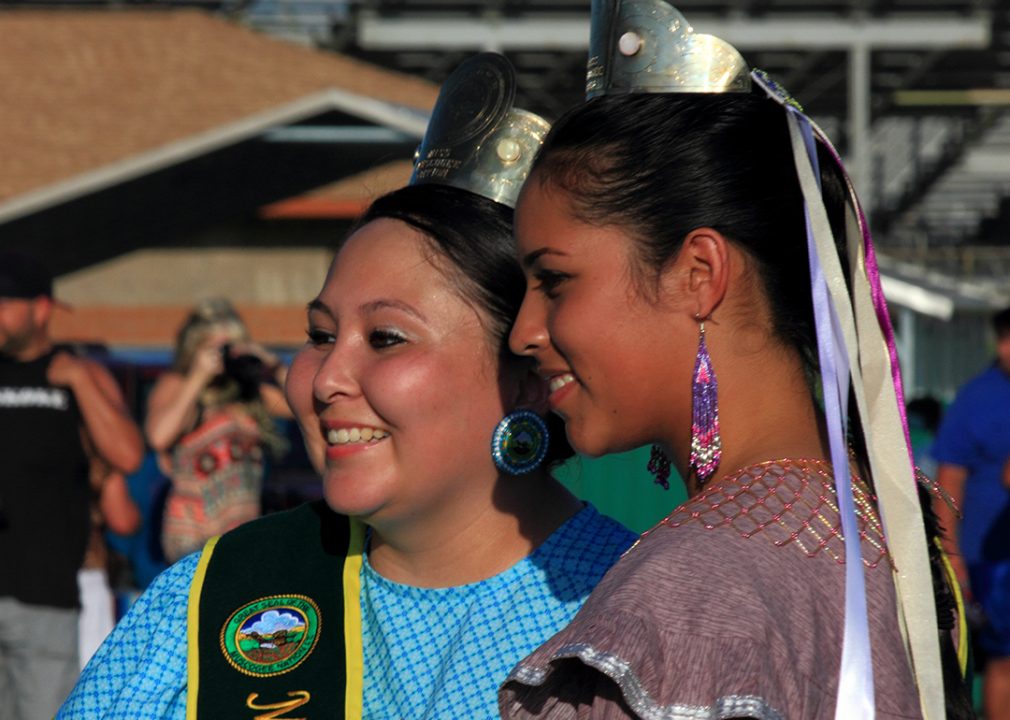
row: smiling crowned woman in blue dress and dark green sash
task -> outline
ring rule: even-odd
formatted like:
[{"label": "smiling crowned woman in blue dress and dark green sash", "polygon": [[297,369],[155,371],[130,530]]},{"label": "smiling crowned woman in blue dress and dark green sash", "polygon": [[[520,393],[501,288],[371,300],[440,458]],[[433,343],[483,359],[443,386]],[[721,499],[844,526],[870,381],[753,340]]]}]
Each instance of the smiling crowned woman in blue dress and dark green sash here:
[{"label": "smiling crowned woman in blue dress and dark green sash", "polygon": [[[493,720],[512,665],[634,540],[551,477],[572,448],[508,351],[512,203],[546,131],[511,109],[514,78],[490,54],[457,70],[412,184],[366,212],[309,305],[287,397],[325,499],[163,573],[61,718]],[[508,102],[468,102],[487,97]]]}]

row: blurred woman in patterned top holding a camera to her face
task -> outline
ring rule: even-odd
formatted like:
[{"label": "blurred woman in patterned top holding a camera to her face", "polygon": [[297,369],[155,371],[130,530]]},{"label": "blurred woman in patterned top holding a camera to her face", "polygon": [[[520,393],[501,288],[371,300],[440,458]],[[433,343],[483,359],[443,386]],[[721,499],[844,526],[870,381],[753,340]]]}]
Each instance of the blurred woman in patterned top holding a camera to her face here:
[{"label": "blurred woman in patterned top holding a camera to her face", "polygon": [[291,417],[281,390],[286,376],[227,300],[201,302],[183,324],[144,423],[172,479],[162,527],[170,562],[260,516],[265,450],[279,454],[287,444],[274,423]]}]

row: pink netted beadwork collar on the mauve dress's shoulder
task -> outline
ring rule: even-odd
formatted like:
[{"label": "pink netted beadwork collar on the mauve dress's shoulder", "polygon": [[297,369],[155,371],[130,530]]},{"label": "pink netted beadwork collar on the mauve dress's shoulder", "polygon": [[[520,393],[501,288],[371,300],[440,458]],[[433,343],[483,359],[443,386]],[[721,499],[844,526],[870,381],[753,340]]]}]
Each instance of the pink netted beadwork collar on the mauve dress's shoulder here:
[{"label": "pink netted beadwork collar on the mauve dress's shoulder", "polygon": [[[855,477],[852,497],[860,536],[876,548],[876,552],[864,549],[863,562],[868,568],[876,568],[885,558],[891,563],[876,498]],[[664,526],[676,528],[691,522],[709,530],[731,527],[745,538],[764,535],[779,547],[795,545],[808,557],[823,552],[839,563],[845,561],[834,477],[831,466],[823,460],[771,460],[726,476],[674,510],[639,542]]]}]

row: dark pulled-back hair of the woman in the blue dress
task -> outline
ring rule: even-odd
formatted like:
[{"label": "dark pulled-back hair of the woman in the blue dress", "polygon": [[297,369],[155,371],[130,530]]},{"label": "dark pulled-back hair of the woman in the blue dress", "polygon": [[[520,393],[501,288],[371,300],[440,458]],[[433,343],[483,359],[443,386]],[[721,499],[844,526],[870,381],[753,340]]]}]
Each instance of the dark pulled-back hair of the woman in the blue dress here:
[{"label": "dark pulled-back hair of the woman in the blue dress", "polygon": [[[439,270],[486,322],[499,364],[528,367],[528,358],[508,348],[508,336],[526,293],[526,277],[515,258],[512,215],[512,208],[466,190],[410,185],[372,203],[355,229],[390,218],[420,231],[436,258],[444,261],[437,264]],[[553,413],[545,420],[550,442],[544,461],[550,465],[573,456],[564,421]]]}]

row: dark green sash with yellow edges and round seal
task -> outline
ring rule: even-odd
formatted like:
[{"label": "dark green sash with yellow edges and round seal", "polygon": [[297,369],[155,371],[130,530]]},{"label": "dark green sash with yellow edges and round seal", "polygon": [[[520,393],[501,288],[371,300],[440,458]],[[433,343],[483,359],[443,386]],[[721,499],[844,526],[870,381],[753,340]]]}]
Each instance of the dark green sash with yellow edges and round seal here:
[{"label": "dark green sash with yellow edges and round seal", "polygon": [[321,500],[209,540],[186,720],[361,720],[364,546],[364,525]]}]

